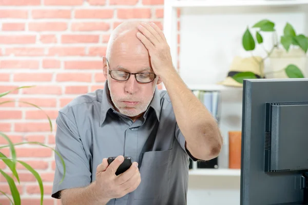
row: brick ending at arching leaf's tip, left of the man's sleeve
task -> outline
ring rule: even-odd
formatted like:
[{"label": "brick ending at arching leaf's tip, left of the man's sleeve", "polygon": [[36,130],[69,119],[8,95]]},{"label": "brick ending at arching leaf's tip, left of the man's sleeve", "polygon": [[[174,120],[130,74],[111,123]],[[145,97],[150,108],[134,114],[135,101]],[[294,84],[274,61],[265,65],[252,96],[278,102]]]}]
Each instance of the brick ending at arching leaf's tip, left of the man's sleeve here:
[{"label": "brick ending at arching leaf's tip, left of the man's sleeve", "polygon": [[15,132],[50,132],[48,122],[16,122]]}]

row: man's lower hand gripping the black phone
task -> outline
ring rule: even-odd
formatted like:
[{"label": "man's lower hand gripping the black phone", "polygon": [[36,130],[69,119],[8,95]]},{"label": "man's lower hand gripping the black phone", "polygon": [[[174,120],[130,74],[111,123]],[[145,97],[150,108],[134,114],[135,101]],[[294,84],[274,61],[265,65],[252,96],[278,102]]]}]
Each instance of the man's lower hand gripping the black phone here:
[{"label": "man's lower hand gripping the black phone", "polygon": [[107,203],[110,199],[120,198],[134,191],[140,185],[141,177],[138,163],[133,162],[128,170],[120,175],[115,172],[124,161],[123,156],[118,156],[108,165],[107,158],[97,167],[95,187],[97,194]]}]

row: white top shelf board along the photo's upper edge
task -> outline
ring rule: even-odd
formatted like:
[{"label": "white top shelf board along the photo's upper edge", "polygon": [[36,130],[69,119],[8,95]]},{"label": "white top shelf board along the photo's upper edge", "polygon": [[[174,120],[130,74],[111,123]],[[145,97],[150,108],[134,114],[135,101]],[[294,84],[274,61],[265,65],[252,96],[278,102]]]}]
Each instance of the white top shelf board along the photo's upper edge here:
[{"label": "white top shelf board along the photo's upper edge", "polygon": [[172,1],[174,8],[181,7],[247,7],[247,6],[303,6],[306,0],[180,0]]}]

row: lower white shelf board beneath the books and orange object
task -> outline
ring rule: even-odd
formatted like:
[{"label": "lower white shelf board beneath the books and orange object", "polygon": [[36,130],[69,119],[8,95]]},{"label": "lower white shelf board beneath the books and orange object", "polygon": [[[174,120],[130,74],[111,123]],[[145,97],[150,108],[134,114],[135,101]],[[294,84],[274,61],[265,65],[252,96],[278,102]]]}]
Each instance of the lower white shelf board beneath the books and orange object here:
[{"label": "lower white shelf board beneath the books and orange object", "polygon": [[240,169],[195,169],[189,170],[190,176],[241,176]]}]

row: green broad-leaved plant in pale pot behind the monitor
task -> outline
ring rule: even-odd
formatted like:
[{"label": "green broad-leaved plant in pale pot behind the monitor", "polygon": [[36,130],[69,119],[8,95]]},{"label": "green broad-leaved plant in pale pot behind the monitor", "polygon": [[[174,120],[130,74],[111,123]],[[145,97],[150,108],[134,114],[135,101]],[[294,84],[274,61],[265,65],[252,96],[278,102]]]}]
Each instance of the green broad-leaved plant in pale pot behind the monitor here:
[{"label": "green broad-leaved plant in pale pot behind the monitor", "polygon": [[[282,73],[286,77],[290,78],[303,78],[303,69],[305,63],[301,63],[299,60],[305,61],[306,53],[308,50],[308,37],[304,34],[297,34],[293,26],[290,23],[286,23],[283,29],[283,35],[278,39],[277,31],[275,29],[275,23],[268,19],[263,19],[257,22],[253,27],[255,29],[254,37],[252,32],[247,27],[246,31],[242,36],[242,46],[248,51],[252,52],[256,49],[256,44],[260,45],[266,52],[266,56],[262,60],[257,61],[260,67],[264,65],[264,60],[271,58],[272,66],[271,71],[261,72],[261,78],[268,77],[275,78],[270,76],[273,73]],[[274,45],[270,50],[266,50],[263,45],[263,32],[272,32],[274,38]],[[300,53],[300,58],[293,58],[291,61],[285,61],[285,57],[292,56],[292,53]],[[254,55],[252,54],[254,57]],[[295,59],[295,61],[294,61]],[[299,68],[298,65],[301,65]],[[277,69],[279,68],[279,69]],[[283,75],[280,75],[283,76]],[[243,79],[246,78],[256,78],[255,73],[253,72],[239,72],[233,76],[233,79],[239,83],[243,83]]]}]

